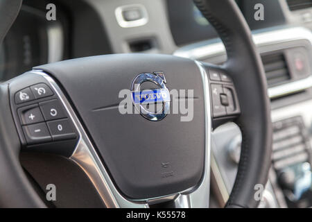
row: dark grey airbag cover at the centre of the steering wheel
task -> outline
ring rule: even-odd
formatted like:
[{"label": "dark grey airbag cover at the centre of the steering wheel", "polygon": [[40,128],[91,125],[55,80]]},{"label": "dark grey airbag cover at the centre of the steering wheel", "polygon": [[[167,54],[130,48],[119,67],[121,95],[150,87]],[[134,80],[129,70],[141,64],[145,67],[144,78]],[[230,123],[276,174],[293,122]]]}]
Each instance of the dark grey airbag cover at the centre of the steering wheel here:
[{"label": "dark grey airbag cover at the centre of the steering wheel", "polygon": [[[193,60],[117,54],[35,69],[46,71],[62,85],[124,196],[155,198],[198,184],[205,160],[205,106],[202,76]],[[188,98],[193,101],[192,121],[181,121],[184,114],[149,121],[140,114],[119,112],[121,89],[130,89],[137,74],[155,71],[164,72],[169,91],[194,90],[193,98]]]}]

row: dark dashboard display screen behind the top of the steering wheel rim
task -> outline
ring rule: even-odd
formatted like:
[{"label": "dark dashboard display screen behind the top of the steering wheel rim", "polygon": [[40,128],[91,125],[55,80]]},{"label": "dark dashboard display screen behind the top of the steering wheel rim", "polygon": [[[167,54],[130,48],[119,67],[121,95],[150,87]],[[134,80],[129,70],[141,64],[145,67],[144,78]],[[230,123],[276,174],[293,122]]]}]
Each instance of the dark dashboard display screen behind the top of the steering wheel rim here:
[{"label": "dark dashboard display screen behind the top of the steering wheel rim", "polygon": [[[279,1],[236,1],[251,30],[286,24]],[[254,5],[262,3],[266,19],[254,22]],[[177,46],[217,37],[214,28],[196,8],[193,1],[168,0],[168,21]]]}]

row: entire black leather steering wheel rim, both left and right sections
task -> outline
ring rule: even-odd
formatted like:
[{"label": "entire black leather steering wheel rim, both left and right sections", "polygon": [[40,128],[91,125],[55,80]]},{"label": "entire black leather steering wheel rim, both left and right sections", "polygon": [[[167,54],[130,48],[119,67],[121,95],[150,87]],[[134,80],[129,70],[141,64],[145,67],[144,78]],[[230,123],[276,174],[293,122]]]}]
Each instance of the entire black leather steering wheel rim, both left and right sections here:
[{"label": "entire black leather steering wheel rim, both left and right sections", "polygon": [[[10,2],[12,1],[6,1],[6,6],[12,6]],[[216,28],[218,35],[225,44],[228,60],[223,67],[217,68],[226,71],[232,77],[241,105],[241,116],[236,119],[236,123],[243,134],[241,161],[226,206],[257,207],[259,200],[254,199],[254,186],[260,184],[264,187],[266,185],[272,144],[270,101],[267,95],[266,78],[261,58],[252,42],[250,29],[234,1],[195,0],[195,3],[202,11],[202,14]],[[12,6],[12,11],[15,13],[7,17],[9,18],[7,21],[10,22],[8,22],[6,28],[0,27],[0,34],[3,35],[8,31],[8,27],[14,21],[19,7],[20,4]],[[227,17],[223,15],[227,15]],[[0,36],[0,40],[1,37],[3,38],[3,36]],[[45,70],[53,76],[53,69],[51,71],[49,65],[37,69]],[[248,73],[248,75],[245,73]],[[10,81],[8,81],[9,84]],[[246,86],[245,83],[249,83],[249,85]],[[1,90],[5,94],[8,85],[1,85]],[[8,105],[9,101],[6,101],[6,99],[1,98],[2,104]],[[8,111],[6,109],[2,110],[2,112],[5,112],[3,115],[8,116],[8,119],[1,120],[1,126],[14,126],[13,119],[9,117],[10,112]],[[257,125],[257,127],[254,127],[254,125]],[[14,128],[11,128],[11,130],[16,131]],[[2,132],[5,132],[5,130],[2,129]],[[6,139],[5,134],[1,134],[1,137],[3,137],[1,139],[1,150],[4,155],[1,155],[3,161],[0,161],[0,163],[1,165],[6,164],[6,167],[1,168],[1,174],[2,178],[8,178],[10,182],[10,186],[6,185],[0,188],[0,196],[5,197],[1,198],[1,206],[45,207],[18,164],[19,144],[16,141],[12,144],[12,141]],[[11,148],[10,151],[8,151],[8,147]],[[20,188],[21,185],[23,185],[22,189]],[[14,189],[19,190],[20,195],[12,200],[8,194],[12,194]]]}]

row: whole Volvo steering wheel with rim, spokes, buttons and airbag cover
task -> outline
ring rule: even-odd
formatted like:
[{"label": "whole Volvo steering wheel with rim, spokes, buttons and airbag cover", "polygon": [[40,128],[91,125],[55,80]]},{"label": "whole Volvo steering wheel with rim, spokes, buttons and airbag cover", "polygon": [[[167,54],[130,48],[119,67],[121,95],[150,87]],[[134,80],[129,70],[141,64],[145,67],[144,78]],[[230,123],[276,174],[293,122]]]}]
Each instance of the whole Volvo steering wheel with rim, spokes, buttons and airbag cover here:
[{"label": "whole Volvo steering wheel with rim, spokes, buttons and airbag cover", "polygon": [[[116,54],[40,65],[1,83],[1,207],[46,207],[21,167],[24,151],[67,157],[106,207],[209,207],[211,131],[226,121],[243,135],[226,207],[257,207],[272,143],[261,58],[235,1],[195,3],[225,45],[222,66]],[[0,40],[20,6],[1,1]],[[179,110],[185,103],[190,118]]]}]

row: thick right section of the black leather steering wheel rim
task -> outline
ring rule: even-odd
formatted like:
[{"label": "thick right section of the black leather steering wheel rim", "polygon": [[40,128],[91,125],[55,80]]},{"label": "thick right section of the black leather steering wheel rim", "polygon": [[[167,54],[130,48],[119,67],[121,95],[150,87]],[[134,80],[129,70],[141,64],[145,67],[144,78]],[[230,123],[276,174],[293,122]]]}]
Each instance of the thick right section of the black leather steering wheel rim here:
[{"label": "thick right section of the black leather steering wheel rim", "polygon": [[233,78],[241,105],[236,120],[243,142],[241,159],[226,207],[257,207],[255,185],[266,186],[272,152],[270,100],[263,65],[250,28],[234,0],[194,0],[214,26],[227,51],[223,68]]}]

